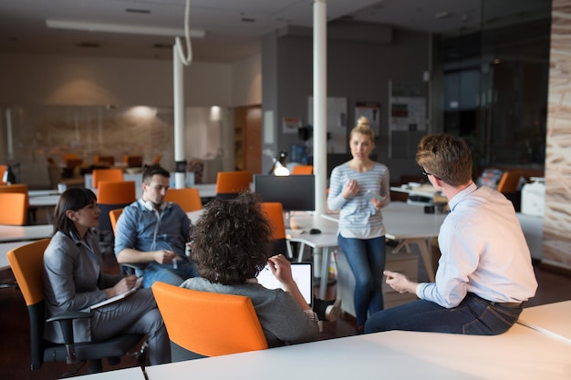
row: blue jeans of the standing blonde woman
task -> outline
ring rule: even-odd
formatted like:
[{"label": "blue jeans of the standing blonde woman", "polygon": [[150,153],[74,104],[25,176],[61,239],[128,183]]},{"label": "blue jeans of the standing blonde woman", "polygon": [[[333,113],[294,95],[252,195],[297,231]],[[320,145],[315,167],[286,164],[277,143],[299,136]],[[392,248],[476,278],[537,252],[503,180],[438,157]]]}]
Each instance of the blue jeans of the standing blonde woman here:
[{"label": "blue jeans of the standing blonde woman", "polygon": [[344,238],[337,235],[339,247],[345,254],[355,277],[355,318],[358,326],[383,309],[383,271],[385,270],[385,237],[373,239]]}]

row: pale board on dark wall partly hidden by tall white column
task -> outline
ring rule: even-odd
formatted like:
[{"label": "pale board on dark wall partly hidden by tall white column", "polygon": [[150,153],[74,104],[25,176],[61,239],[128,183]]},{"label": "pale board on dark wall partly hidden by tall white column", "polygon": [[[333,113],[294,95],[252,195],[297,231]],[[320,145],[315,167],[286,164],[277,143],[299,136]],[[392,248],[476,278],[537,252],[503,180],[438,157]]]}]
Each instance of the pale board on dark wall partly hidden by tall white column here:
[{"label": "pale board on dark wall partly hidden by tall white column", "polygon": [[[307,120],[313,126],[313,97],[307,101]],[[347,153],[347,98],[327,98],[327,153]]]}]

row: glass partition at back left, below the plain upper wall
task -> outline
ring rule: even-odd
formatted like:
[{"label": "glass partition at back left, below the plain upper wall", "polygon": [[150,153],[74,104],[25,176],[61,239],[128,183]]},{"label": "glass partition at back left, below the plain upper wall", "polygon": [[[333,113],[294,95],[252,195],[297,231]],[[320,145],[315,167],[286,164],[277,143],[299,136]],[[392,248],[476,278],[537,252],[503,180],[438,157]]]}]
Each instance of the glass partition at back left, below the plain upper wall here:
[{"label": "glass partition at back left, below the plain upper wall", "polygon": [[[48,163],[64,169],[67,155],[81,161],[81,171],[95,164],[96,156],[112,157],[119,166],[124,156],[140,157],[143,164],[161,158],[165,169],[175,169],[171,107],[0,105],[0,111],[0,164],[13,166],[16,180],[31,188],[46,188]],[[185,108],[187,161],[221,159],[229,115],[230,108]]]}]

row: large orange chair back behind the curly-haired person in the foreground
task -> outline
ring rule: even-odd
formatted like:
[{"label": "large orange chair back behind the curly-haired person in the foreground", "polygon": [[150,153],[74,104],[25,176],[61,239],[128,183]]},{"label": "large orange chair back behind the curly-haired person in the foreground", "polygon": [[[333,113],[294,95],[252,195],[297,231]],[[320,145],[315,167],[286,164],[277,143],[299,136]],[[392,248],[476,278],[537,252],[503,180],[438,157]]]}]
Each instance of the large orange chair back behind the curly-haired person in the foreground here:
[{"label": "large orange chair back behind the curly-haired person in the foreground", "polygon": [[[171,339],[172,361],[267,348],[249,297],[197,292],[165,282],[152,284]],[[194,354],[194,355],[193,355]]]}]

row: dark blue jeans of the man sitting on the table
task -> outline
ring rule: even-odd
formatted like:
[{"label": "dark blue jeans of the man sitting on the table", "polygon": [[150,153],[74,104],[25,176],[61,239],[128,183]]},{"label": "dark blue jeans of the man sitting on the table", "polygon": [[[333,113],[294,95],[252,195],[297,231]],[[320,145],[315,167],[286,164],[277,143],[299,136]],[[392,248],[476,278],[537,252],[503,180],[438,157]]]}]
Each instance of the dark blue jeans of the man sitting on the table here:
[{"label": "dark blue jeans of the man sitting on the table", "polygon": [[365,324],[365,333],[405,330],[466,335],[503,334],[517,321],[522,310],[523,305],[490,303],[473,293],[468,293],[462,303],[451,309],[419,300],[371,315]]}]

